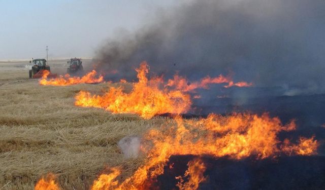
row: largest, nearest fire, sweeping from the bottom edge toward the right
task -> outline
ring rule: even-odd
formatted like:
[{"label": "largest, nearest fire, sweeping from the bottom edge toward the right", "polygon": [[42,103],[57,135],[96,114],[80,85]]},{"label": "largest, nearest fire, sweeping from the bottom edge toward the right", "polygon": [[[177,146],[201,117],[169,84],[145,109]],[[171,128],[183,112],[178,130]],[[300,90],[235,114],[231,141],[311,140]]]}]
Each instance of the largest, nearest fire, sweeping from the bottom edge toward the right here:
[{"label": "largest, nearest fire, sweeping from the bottom edge toward the right", "polygon": [[[234,113],[226,117],[213,114],[200,120],[175,118],[171,125],[149,130],[144,135],[142,150],[147,159],[143,166],[118,185],[110,184],[119,172],[109,174],[108,185],[102,189],[148,189],[153,185],[151,181],[164,173],[164,167],[172,155],[226,156],[237,160],[249,156],[265,159],[280,154],[315,154],[318,143],[314,137],[301,137],[298,145],[288,140],[281,142],[277,138],[280,131],[295,128],[295,121],[283,125],[278,118],[270,118],[266,113],[262,116]],[[188,181],[184,183],[184,177],[177,177],[180,180],[177,186],[180,189],[197,189],[199,183],[205,181],[205,169],[201,160],[189,162],[184,175]]]}]

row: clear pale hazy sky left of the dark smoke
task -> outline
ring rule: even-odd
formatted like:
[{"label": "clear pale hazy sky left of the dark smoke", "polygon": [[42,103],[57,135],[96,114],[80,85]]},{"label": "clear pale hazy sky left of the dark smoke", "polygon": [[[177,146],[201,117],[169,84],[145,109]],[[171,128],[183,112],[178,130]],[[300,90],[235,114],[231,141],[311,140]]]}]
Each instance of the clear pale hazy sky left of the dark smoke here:
[{"label": "clear pale hazy sky left of the dark smoke", "polygon": [[175,1],[0,0],[0,59],[93,56],[121,28],[133,31]]}]

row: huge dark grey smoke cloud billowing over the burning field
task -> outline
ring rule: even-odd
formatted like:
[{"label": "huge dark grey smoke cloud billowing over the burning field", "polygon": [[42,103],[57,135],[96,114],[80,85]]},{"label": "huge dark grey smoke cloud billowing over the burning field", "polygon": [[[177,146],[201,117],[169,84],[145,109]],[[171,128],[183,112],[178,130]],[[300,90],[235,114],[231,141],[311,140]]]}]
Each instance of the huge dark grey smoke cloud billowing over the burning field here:
[{"label": "huge dark grey smoke cloud billowing over the burning field", "polygon": [[235,72],[235,81],[279,86],[288,95],[325,87],[325,1],[198,0],[153,15],[135,33],[118,34],[94,59],[109,77],[135,79],[146,60],[169,78]]}]

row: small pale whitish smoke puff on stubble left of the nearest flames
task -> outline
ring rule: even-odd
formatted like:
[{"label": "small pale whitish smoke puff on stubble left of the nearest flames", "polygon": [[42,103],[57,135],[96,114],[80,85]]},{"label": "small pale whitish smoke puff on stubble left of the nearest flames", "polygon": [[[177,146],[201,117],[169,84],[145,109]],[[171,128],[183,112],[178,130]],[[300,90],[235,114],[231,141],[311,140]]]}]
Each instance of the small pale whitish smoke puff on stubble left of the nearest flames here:
[{"label": "small pale whitish smoke puff on stubble left of the nearest flames", "polygon": [[138,136],[126,136],[117,143],[125,158],[137,158],[140,144],[141,140]]}]

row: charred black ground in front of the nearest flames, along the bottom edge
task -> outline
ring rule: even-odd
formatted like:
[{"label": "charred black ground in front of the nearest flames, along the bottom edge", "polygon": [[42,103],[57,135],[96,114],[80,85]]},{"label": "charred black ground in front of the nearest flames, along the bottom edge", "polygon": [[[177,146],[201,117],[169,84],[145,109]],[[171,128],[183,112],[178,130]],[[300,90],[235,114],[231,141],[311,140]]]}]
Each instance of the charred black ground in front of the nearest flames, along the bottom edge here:
[{"label": "charred black ground in front of the nearest flames, along the bottom edge", "polygon": [[[164,174],[157,178],[159,189],[174,189],[175,176],[184,175],[187,163],[193,158],[191,155],[172,156]],[[204,172],[207,181],[199,189],[323,189],[325,185],[325,158],[320,156],[263,160],[200,158],[207,167]],[[170,164],[174,166],[172,169]]]}]

